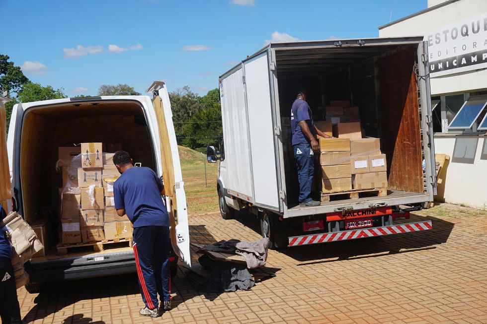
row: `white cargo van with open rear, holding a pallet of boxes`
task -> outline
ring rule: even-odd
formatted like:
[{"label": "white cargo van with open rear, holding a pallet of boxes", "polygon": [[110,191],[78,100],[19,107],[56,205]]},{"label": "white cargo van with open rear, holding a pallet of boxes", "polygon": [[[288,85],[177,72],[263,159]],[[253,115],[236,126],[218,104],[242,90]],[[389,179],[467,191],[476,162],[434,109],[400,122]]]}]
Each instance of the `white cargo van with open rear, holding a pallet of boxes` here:
[{"label": "white cargo van with open rear, holding a pallet of boxes", "polygon": [[[172,248],[191,263],[184,183],[181,176],[172,112],[164,82],[156,81],[148,96],[77,97],[17,104],[7,138],[14,209],[32,223],[49,219],[46,240],[56,242],[61,174],[56,171],[58,147],[81,142],[121,143],[134,162],[163,176],[165,204],[171,222]],[[113,246],[113,247],[111,247]],[[177,259],[176,259],[177,261]],[[176,262],[171,263],[174,271]],[[28,290],[54,280],[135,272],[131,247],[107,245],[93,249],[56,249],[26,264]]]}]

